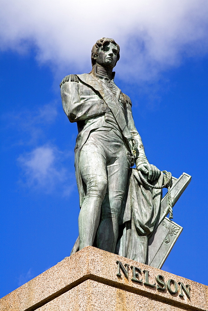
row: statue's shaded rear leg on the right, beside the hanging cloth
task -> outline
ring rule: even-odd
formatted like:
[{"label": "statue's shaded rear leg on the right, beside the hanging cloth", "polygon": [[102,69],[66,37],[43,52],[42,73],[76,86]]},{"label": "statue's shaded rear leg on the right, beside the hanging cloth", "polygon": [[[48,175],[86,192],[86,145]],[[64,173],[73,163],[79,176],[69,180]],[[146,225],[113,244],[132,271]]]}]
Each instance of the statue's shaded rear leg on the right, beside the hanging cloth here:
[{"label": "statue's shaded rear leg on the right, beside the hanging cloth", "polygon": [[[112,163],[113,162],[113,163]],[[97,246],[114,253],[118,238],[118,219],[126,190],[129,163],[126,147],[119,147],[118,157],[107,165],[108,187],[102,203],[101,223],[97,230]]]}]

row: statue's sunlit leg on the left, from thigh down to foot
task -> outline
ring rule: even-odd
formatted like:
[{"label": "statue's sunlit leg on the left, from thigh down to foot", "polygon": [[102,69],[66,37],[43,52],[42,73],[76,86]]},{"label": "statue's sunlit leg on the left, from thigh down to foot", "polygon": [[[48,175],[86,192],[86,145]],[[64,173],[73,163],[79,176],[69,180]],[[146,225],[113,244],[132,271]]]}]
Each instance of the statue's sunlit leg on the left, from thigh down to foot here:
[{"label": "statue's sunlit leg on the left, from thigh down to foot", "polygon": [[80,152],[79,168],[87,186],[79,224],[79,249],[93,244],[100,221],[100,211],[106,193],[107,175],[105,158],[93,146],[84,145]]}]

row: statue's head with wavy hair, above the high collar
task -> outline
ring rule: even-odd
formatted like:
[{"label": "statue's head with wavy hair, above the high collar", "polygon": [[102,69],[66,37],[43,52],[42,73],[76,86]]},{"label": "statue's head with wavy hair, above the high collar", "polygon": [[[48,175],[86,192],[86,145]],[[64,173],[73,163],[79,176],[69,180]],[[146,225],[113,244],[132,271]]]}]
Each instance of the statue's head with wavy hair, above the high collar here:
[{"label": "statue's head with wavy hair, above the high collar", "polygon": [[101,38],[97,40],[92,47],[92,66],[98,63],[112,69],[120,58],[119,52],[120,47],[113,39]]}]

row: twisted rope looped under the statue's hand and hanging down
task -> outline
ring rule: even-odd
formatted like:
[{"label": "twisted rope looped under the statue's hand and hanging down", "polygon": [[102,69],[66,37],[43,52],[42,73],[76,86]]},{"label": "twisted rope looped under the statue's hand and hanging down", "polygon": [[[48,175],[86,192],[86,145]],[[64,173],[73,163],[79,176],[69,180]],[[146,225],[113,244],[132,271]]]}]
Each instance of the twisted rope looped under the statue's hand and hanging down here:
[{"label": "twisted rope looped under the statue's hand and hanging down", "polygon": [[163,188],[167,188],[168,189],[168,210],[169,210],[169,219],[173,219],[173,206],[172,206],[172,200],[171,200],[171,193],[170,193],[170,186],[172,184],[172,174],[170,172],[167,171],[163,171],[164,173],[164,184],[162,185],[162,187],[159,186],[153,186],[150,183],[148,183],[142,173],[140,171],[138,171],[139,173],[139,177],[141,179],[141,181],[148,186],[149,188],[153,188],[153,189],[163,189]]}]

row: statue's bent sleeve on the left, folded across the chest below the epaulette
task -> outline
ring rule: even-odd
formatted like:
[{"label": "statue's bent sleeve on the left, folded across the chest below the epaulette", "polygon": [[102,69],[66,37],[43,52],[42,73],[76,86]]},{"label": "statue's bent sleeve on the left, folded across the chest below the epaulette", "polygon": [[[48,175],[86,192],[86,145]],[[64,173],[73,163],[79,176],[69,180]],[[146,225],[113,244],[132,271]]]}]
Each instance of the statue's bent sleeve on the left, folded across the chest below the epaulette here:
[{"label": "statue's bent sleeve on the left, folded across the chest below the epaulette", "polygon": [[61,85],[61,98],[63,109],[70,122],[89,119],[103,114],[101,105],[97,105],[83,89],[82,83],[65,82]]}]

